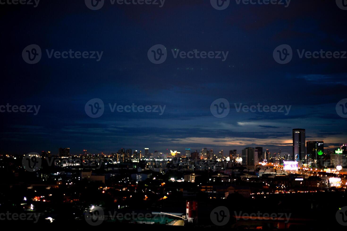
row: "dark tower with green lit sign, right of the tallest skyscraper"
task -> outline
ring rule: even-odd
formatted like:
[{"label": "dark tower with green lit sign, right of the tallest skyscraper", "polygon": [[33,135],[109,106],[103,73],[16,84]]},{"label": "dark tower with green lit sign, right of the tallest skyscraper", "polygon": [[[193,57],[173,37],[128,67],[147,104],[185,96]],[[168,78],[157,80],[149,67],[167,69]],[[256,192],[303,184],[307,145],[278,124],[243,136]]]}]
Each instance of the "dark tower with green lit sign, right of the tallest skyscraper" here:
[{"label": "dark tower with green lit sign, right of the tallest skyscraper", "polygon": [[324,167],[324,141],[307,141],[306,148],[308,167]]}]

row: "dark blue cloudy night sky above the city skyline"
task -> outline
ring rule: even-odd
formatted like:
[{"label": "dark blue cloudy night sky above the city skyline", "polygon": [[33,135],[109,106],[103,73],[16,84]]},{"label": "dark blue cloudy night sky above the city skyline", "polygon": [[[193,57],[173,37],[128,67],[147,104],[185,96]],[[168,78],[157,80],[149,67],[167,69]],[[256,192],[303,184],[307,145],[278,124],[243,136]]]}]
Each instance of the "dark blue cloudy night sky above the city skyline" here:
[{"label": "dark blue cloudy night sky above the city skyline", "polygon": [[[72,154],[185,148],[263,146],[292,152],[292,129],[325,148],[347,142],[347,119],[336,104],[347,98],[347,59],[300,59],[296,50],[347,51],[347,10],[335,0],[291,0],[216,10],[210,0],[166,0],[158,5],[88,9],[83,0],[41,0],[37,7],[0,5],[0,105],[41,105],[33,113],[0,113],[1,154],[43,150]],[[37,44],[42,58],[28,64],[23,49]],[[147,57],[156,44],[167,60]],[[288,44],[293,59],[279,64],[274,49]],[[49,51],[103,51],[96,59],[49,59]],[[180,51],[229,52],[221,59],[175,59]],[[346,55],[347,56],[347,55]],[[102,99],[99,118],[85,104]],[[225,98],[230,113],[217,118],[211,103]],[[166,105],[164,113],[110,111],[108,104]],[[243,105],[291,105],[285,113],[236,112]]]}]

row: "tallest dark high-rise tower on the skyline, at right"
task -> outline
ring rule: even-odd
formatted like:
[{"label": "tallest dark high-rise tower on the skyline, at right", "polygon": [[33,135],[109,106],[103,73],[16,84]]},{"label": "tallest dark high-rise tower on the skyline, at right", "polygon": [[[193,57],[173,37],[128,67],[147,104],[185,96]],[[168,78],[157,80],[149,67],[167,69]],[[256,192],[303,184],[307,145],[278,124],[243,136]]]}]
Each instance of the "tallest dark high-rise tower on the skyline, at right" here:
[{"label": "tallest dark high-rise tower on the skyline, at right", "polygon": [[305,129],[293,129],[293,160],[306,161],[306,131]]}]

